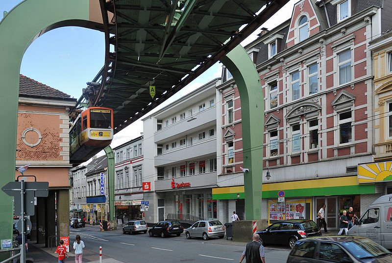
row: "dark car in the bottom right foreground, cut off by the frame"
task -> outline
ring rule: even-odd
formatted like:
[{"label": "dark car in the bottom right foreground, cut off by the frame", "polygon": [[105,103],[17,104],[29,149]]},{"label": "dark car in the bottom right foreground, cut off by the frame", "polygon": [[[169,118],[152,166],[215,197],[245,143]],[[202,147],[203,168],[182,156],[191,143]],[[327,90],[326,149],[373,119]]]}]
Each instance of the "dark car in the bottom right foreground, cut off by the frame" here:
[{"label": "dark car in the bottom right foreground, cut off by the frame", "polygon": [[287,263],[320,262],[392,262],[392,253],[366,237],[309,237],[298,240],[287,259]]}]

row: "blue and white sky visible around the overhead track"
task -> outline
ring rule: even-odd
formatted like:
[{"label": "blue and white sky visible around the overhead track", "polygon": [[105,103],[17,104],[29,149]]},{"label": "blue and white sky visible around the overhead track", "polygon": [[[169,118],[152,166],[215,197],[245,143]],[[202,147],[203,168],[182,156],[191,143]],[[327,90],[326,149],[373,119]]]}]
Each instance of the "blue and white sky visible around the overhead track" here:
[{"label": "blue and white sky visible around the overhead track", "polygon": [[[31,0],[30,0],[31,1]],[[294,3],[290,0],[283,8],[260,27],[272,29],[290,18]],[[21,0],[0,0],[0,18],[2,11],[9,12]],[[260,29],[241,43],[243,46],[257,38]],[[51,30],[37,38],[27,49],[22,60],[21,74],[42,82],[79,99],[86,82],[91,81],[102,68],[104,62],[104,34],[82,27],[62,27]],[[221,63],[216,63],[189,85],[177,92],[160,107],[159,110],[195,90],[212,79],[221,77]],[[153,111],[149,112],[151,114]],[[141,120],[118,132],[112,141],[112,148],[140,136],[143,132]],[[103,155],[103,151],[98,155]]]}]

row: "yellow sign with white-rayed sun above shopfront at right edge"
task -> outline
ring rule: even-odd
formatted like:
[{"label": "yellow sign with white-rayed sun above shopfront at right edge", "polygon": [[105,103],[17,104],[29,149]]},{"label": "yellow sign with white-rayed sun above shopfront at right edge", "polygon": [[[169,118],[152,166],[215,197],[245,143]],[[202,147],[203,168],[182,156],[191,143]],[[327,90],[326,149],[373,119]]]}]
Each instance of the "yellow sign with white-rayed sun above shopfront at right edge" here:
[{"label": "yellow sign with white-rayed sun above shopfront at right edge", "polygon": [[392,181],[392,162],[373,162],[358,165],[358,183]]}]

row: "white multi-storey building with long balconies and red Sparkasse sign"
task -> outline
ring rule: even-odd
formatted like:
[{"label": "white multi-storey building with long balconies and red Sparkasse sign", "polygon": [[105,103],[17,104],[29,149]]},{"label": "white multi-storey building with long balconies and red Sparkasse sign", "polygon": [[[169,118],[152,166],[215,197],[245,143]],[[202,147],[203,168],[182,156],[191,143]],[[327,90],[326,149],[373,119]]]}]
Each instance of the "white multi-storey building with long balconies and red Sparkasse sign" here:
[{"label": "white multi-storey building with long balconies and red Sparkasse sign", "polygon": [[214,79],[143,119],[143,172],[154,191],[147,222],[218,218],[212,188],[217,185],[220,83]]}]

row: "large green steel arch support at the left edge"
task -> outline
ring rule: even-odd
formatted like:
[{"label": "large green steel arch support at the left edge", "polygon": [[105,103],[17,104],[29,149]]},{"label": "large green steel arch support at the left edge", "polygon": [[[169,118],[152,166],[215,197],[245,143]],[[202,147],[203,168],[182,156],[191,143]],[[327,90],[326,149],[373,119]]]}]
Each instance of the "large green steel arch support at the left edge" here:
[{"label": "large green steel arch support at the left edge", "polygon": [[[23,54],[40,34],[59,26],[89,21],[89,0],[25,0],[0,22],[0,186],[15,180],[19,73]],[[13,203],[0,191],[0,239],[12,238]],[[7,257],[6,253],[0,259]]]}]

